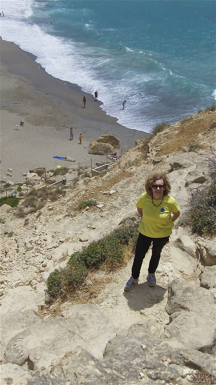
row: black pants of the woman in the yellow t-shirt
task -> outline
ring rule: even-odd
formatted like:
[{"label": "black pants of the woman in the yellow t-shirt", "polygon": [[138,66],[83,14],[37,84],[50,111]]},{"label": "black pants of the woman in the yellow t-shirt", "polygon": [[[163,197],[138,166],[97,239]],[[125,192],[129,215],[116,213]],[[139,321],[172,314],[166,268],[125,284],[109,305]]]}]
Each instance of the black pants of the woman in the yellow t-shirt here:
[{"label": "black pants of the woman in the yellow t-shirt", "polygon": [[164,238],[150,238],[146,237],[143,234],[139,234],[137,243],[136,243],[136,250],[135,250],[135,257],[133,260],[133,266],[132,266],[132,277],[136,280],[140,276],[140,270],[143,263],[143,259],[145,258],[145,255],[150,248],[152,242],[152,254],[150,263],[148,266],[148,273],[154,273],[158,267],[160,257],[161,257],[161,251],[166,243],[169,242],[169,237]]}]

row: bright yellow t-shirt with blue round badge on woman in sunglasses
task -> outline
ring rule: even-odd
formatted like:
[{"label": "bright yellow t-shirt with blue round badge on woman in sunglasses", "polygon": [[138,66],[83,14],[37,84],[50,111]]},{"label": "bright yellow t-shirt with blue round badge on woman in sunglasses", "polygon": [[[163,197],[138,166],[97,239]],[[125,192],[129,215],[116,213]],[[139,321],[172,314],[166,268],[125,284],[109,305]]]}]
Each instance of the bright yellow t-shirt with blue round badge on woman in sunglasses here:
[{"label": "bright yellow t-shirt with blue round badge on woman in sunglasses", "polygon": [[[153,202],[158,206],[160,200],[153,199]],[[136,206],[143,209],[143,218],[138,227],[141,234],[150,238],[163,238],[172,233],[174,223],[171,213],[179,211],[178,203],[174,198],[165,195],[160,206],[155,207],[151,197],[144,192],[136,202]]]}]

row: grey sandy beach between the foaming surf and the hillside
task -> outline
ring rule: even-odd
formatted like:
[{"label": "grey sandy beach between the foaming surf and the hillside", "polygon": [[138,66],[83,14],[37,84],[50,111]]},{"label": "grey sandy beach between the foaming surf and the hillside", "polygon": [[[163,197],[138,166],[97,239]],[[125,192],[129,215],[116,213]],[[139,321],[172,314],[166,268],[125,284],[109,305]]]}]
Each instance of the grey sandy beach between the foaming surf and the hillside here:
[{"label": "grey sandy beach between the foaming surf and the hillside", "polygon": [[[130,130],[100,108],[100,100],[85,94],[80,87],[54,78],[45,72],[36,57],[17,45],[1,39],[1,179],[23,181],[22,173],[34,167],[47,170],[58,164],[67,167],[92,165],[106,156],[88,154],[90,142],[101,134],[115,135],[127,151],[145,132]],[[86,95],[86,108],[82,99]],[[100,95],[98,97],[100,99]],[[24,121],[23,126],[16,127]],[[70,141],[73,126],[73,141]],[[83,135],[80,146],[78,136]],[[117,150],[121,154],[121,149]],[[76,162],[53,156],[70,156]],[[11,168],[12,177],[6,176]]]}]

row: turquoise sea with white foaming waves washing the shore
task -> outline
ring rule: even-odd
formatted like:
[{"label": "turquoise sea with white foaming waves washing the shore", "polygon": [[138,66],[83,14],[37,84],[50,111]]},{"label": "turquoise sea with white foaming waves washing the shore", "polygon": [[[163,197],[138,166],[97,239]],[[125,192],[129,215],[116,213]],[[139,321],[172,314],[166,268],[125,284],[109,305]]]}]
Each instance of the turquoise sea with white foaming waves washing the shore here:
[{"label": "turquoise sea with white foaming waves washing the shore", "polygon": [[214,0],[1,0],[1,11],[4,40],[97,90],[128,128],[150,132],[215,104]]}]

